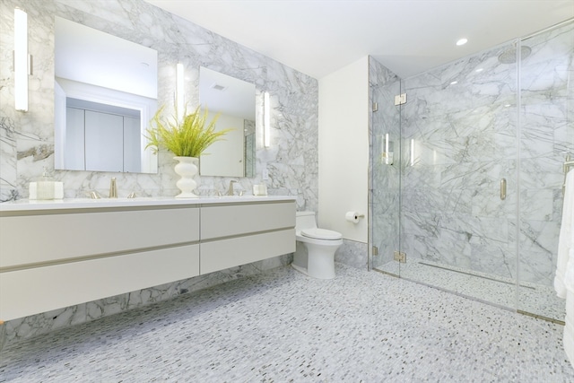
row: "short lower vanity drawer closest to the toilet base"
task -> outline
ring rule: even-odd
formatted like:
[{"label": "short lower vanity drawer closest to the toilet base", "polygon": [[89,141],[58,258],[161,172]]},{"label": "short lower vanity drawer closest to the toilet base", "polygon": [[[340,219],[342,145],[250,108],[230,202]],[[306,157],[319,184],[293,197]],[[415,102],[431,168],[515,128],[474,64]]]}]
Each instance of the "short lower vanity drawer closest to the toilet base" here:
[{"label": "short lower vanity drawer closest to the toilet base", "polygon": [[201,243],[200,273],[207,274],[295,251],[295,229]]}]

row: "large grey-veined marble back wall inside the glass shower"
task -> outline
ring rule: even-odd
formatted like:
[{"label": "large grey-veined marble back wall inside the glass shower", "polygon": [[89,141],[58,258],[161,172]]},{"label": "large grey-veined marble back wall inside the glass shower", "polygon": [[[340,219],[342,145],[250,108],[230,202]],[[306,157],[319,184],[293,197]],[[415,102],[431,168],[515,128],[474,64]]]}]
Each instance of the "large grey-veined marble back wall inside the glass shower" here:
[{"label": "large grey-veined marble back wall inside the glass shower", "polygon": [[570,22],[526,39],[519,71],[497,58],[513,41],[404,80],[407,257],[515,280],[519,247],[520,280],[552,285],[561,163],[574,147],[572,40]]}]

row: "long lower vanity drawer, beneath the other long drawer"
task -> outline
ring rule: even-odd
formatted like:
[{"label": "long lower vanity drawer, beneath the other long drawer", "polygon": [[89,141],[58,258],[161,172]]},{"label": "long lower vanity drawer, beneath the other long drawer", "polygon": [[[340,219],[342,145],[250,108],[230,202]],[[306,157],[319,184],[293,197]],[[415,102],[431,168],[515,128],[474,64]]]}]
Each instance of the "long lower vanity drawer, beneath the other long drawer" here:
[{"label": "long lower vanity drawer, beneath the other long drawer", "polygon": [[0,320],[199,275],[199,245],[0,273]]}]

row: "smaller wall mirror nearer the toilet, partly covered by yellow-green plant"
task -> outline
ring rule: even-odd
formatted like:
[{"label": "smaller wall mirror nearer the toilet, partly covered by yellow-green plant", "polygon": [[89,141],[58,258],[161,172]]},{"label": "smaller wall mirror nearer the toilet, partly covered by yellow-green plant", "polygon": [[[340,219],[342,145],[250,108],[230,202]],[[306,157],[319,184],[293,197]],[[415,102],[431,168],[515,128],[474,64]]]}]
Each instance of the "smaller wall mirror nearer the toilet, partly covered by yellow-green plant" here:
[{"label": "smaller wall mirror nearer the toilet, partly covered by yellow-green plant", "polygon": [[199,99],[209,111],[208,120],[220,114],[216,130],[233,129],[201,156],[200,174],[255,177],[255,84],[201,67]]}]

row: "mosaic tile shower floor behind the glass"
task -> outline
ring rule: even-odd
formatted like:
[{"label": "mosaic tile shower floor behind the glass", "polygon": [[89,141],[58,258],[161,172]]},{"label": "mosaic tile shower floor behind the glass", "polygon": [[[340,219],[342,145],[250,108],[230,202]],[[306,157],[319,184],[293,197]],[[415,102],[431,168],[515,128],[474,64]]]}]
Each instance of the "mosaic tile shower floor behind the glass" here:
[{"label": "mosaic tile shower floor behind the glass", "polygon": [[404,279],[436,286],[502,307],[517,308],[545,318],[563,322],[566,315],[564,300],[556,296],[552,286],[520,283],[517,304],[516,283],[508,278],[474,271],[469,274],[469,271],[463,268],[420,260],[404,264],[388,262],[378,269],[390,274],[400,274]]}]

